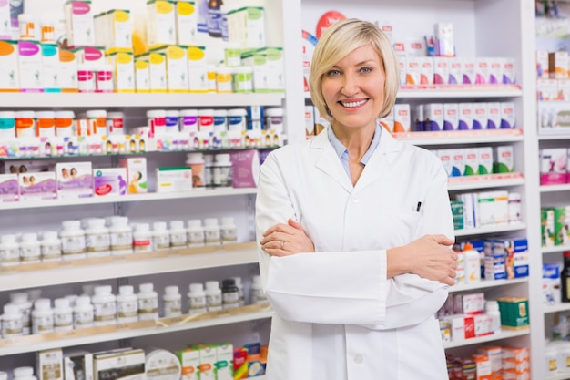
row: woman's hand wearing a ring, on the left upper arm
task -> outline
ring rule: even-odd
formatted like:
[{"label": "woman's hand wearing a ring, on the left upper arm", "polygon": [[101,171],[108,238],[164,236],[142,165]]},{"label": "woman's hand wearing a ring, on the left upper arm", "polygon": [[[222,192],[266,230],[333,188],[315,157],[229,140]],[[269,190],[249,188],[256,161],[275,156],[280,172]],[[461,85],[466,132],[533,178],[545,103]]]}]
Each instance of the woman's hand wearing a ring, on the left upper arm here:
[{"label": "woman's hand wearing a ring, on the left upper arm", "polygon": [[263,251],[271,256],[288,256],[300,252],[315,252],[315,245],[297,221],[278,223],[263,232]]}]

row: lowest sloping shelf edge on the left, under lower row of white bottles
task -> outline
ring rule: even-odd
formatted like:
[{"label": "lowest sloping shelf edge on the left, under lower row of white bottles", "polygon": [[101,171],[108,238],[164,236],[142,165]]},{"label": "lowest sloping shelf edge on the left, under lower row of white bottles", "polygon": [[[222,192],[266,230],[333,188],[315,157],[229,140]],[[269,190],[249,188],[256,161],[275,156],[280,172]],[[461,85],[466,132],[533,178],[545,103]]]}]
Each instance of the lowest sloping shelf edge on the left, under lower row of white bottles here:
[{"label": "lowest sloping shelf edge on the left, under lower row of white bottles", "polygon": [[176,333],[224,324],[239,324],[268,319],[273,316],[273,313],[269,305],[247,305],[220,312],[182,315],[158,321],[139,321],[132,324],[90,327],[61,333],[25,335],[0,340],[0,356]]}]

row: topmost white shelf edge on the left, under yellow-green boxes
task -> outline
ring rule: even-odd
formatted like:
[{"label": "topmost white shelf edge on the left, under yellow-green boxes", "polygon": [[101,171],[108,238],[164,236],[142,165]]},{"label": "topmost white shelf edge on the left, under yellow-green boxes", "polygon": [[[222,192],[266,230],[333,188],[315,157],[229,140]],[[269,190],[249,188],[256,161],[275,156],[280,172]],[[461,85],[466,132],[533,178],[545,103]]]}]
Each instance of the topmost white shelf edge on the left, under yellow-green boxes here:
[{"label": "topmost white shelf edge on the left, under yellow-green boxes", "polygon": [[[281,106],[283,93],[123,94],[0,93],[0,108],[193,108]],[[66,106],[64,106],[66,105]]]}]

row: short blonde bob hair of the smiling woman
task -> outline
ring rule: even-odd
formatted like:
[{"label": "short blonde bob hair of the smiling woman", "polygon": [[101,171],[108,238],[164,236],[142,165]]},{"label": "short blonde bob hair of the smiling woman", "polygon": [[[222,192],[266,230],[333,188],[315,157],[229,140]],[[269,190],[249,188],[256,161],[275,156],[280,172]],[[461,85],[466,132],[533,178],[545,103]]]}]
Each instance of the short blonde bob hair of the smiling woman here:
[{"label": "short blonde bob hair of the smiling woman", "polygon": [[310,98],[323,118],[331,121],[332,116],[322,96],[322,77],[354,49],[367,44],[371,44],[380,56],[386,76],[384,104],[378,117],[382,118],[390,113],[400,86],[400,67],[392,43],[378,26],[349,18],[333,24],[322,34],[312,56],[309,77]]}]

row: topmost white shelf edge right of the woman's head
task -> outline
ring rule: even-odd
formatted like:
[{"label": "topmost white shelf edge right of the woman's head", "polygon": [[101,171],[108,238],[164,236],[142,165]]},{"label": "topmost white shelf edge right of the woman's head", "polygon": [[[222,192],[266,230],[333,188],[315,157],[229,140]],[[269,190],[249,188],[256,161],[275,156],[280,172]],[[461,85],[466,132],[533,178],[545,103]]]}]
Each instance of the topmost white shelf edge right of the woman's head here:
[{"label": "topmost white shelf edge right of the woman's head", "polygon": [[430,99],[430,98],[517,98],[523,96],[520,86],[402,86],[398,98]]}]

